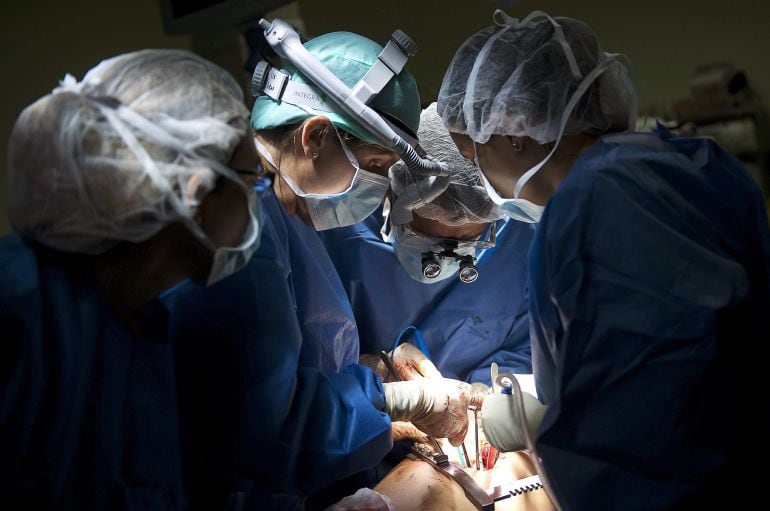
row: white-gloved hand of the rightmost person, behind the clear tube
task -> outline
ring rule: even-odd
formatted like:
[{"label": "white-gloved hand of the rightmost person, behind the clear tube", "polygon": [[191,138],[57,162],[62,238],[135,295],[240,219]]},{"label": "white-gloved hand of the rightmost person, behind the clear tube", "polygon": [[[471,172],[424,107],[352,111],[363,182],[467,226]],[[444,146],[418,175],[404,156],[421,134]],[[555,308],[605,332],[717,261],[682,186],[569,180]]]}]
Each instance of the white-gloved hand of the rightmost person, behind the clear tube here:
[{"label": "white-gloved hand of the rightmost person, behind the clear tube", "polygon": [[548,407],[527,392],[522,392],[522,397],[525,415],[523,418],[516,413],[513,394],[489,394],[484,398],[481,427],[489,443],[500,451],[522,451],[527,448],[522,419],[526,422],[533,441],[543,422],[543,415]]}]

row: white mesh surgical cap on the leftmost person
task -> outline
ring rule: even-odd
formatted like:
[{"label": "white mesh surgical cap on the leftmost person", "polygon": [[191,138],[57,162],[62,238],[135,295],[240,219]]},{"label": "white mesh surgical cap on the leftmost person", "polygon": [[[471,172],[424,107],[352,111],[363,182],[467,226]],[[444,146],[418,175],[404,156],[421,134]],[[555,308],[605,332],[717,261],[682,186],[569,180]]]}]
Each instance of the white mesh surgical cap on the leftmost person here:
[{"label": "white mesh surgical cap on the leftmost person", "polygon": [[[191,222],[248,129],[223,69],[182,50],[102,61],[28,106],[8,147],[9,217],[22,236],[102,253]],[[198,234],[198,233],[196,233]]]}]

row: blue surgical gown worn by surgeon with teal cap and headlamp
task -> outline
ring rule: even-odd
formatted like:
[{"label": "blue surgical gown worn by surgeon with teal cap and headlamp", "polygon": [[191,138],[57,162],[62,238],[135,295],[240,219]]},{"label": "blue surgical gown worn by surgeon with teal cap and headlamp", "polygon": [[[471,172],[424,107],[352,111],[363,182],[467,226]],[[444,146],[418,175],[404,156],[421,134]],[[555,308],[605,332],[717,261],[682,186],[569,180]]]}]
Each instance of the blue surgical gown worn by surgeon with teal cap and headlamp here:
[{"label": "blue surgical gown worn by surgeon with teal cap and headlamp", "polygon": [[384,457],[390,419],[379,378],[353,364],[353,314],[318,234],[269,183],[258,190],[259,250],[213,286],[170,294],[170,330],[183,359],[191,498],[245,479],[256,509],[292,509]]}]

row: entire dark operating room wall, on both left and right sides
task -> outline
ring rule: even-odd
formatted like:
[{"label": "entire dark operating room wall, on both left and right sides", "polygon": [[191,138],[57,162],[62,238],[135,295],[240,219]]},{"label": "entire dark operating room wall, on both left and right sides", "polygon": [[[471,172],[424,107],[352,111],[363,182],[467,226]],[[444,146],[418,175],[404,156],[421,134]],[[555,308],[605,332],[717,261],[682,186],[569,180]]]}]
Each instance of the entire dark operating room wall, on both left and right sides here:
[{"label": "entire dark operating room wall, on both left and right sides", "polygon": [[[692,70],[731,61],[755,90],[770,99],[770,3],[754,0],[299,0],[308,35],[356,31],[379,42],[401,28],[420,50],[409,69],[425,103],[436,98],[444,69],[459,44],[491,24],[502,7],[521,17],[541,9],[586,21],[605,50],[632,63],[643,111],[658,113],[689,94]],[[66,5],[65,5],[66,4]],[[0,235],[9,231],[6,211],[6,141],[18,113],[50,91],[65,72],[77,77],[100,59],[146,47],[201,48],[220,64],[241,58],[229,34],[167,37],[158,0],[33,0],[4,2],[0,9]],[[221,37],[225,42],[218,39]],[[202,41],[202,42],[201,42]],[[232,54],[227,54],[230,52]],[[223,64],[224,65],[224,64]],[[231,65],[226,65],[230,68]]]}]

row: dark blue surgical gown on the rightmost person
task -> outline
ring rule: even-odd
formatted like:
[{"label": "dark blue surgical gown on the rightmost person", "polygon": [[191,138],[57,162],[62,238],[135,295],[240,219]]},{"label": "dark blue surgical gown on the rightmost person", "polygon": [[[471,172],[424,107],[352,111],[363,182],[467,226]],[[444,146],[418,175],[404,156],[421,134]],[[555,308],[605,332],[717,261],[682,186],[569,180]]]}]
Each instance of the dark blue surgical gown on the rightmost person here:
[{"label": "dark blue surgical gown on the rightmost person", "polygon": [[576,160],[530,254],[564,509],[768,509],[769,270],[759,189],[713,142],[608,135]]}]

